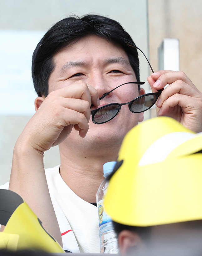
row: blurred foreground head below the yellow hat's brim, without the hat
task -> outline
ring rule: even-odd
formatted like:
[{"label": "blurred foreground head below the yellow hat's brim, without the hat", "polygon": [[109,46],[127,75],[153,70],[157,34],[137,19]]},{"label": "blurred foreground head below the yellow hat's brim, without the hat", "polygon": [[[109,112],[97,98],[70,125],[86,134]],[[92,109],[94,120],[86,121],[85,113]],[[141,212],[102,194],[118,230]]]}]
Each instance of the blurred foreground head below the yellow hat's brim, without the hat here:
[{"label": "blurred foreground head below the yellow hat's brim, without the hat", "polygon": [[201,255],[202,220],[148,227],[113,222],[121,255]]}]

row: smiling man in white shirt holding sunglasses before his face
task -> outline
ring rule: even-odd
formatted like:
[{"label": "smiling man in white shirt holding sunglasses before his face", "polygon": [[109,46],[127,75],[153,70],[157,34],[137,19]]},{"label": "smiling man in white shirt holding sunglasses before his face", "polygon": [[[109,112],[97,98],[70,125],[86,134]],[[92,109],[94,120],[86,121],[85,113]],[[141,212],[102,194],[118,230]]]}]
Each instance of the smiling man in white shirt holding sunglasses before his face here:
[{"label": "smiling man in white shirt holding sunglasses before his face", "polygon": [[[116,161],[124,136],[143,120],[143,113],[131,113],[125,105],[109,122],[97,125],[90,119],[98,105],[125,103],[144,94],[137,84],[128,84],[139,81],[139,61],[126,41],[133,42],[114,20],[70,17],[50,28],[33,54],[36,114],[15,145],[9,189],[23,197],[68,251],[99,252],[92,203],[103,180],[102,166]],[[201,131],[202,94],[184,73],[159,71],[148,81],[154,92],[172,84],[157,102],[160,115]],[[61,165],[45,175],[43,153],[57,144]]]}]

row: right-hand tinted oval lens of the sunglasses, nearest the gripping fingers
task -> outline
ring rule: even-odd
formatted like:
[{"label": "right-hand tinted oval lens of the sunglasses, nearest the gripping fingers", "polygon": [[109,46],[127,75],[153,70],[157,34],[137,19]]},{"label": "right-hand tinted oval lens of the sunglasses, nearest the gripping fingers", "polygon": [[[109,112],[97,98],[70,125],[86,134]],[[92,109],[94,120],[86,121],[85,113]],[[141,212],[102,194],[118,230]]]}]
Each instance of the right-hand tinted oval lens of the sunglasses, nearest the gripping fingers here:
[{"label": "right-hand tinted oval lens of the sunglasses, nearest the gripping fingers", "polygon": [[156,100],[156,95],[146,95],[135,100],[131,105],[131,110],[134,113],[146,111],[155,104]]}]

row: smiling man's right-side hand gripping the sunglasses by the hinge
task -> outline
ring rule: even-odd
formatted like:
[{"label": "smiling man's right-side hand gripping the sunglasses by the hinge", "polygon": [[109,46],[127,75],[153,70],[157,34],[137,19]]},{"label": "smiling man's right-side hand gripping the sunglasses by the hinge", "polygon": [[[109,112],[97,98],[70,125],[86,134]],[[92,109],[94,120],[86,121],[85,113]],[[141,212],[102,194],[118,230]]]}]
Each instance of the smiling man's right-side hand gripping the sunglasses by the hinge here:
[{"label": "smiling man's right-side hand gripping the sunglasses by the hinge", "polygon": [[192,131],[202,131],[202,93],[183,72],[160,70],[148,82],[152,92],[169,84],[157,100],[157,116],[170,116]]}]

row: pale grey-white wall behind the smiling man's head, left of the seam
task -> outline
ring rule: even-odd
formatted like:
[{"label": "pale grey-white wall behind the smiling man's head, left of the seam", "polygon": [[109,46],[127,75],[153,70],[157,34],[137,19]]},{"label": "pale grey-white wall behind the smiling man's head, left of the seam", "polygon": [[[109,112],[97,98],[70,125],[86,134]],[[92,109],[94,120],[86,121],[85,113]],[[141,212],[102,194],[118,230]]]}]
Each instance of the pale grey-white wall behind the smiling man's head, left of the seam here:
[{"label": "pale grey-white wall behind the smiling man's head, left of the seam", "polygon": [[[131,34],[137,46],[144,51],[148,56],[148,20],[147,20],[147,0],[0,0],[0,31],[7,31],[9,33],[28,33],[39,31],[44,33],[52,24],[56,23],[62,18],[67,17],[71,13],[76,15],[83,15],[86,13],[96,13],[108,16],[120,22],[123,27]],[[5,35],[1,34],[0,41],[6,40]],[[28,64],[24,66],[24,69],[19,70],[18,62],[22,64],[23,57],[27,54],[23,52],[22,47],[22,59],[18,55],[18,59],[12,59],[17,51],[17,39],[13,36],[11,44],[7,48],[1,46],[0,50],[0,66],[7,68],[5,72],[0,72],[0,87],[2,92],[2,99],[4,99],[0,110],[0,185],[9,180],[10,170],[12,165],[12,151],[15,145],[17,137],[23,130],[27,121],[34,113],[34,92],[30,89],[33,85],[31,82],[31,56]],[[23,40],[22,45],[27,48],[26,42]],[[5,49],[4,49],[5,47]],[[13,54],[11,54],[13,51]],[[6,55],[8,54],[8,55]],[[26,55],[26,56],[28,56]],[[9,56],[5,57],[5,56]],[[27,61],[27,59],[26,59]],[[148,76],[149,68],[145,59],[140,53],[140,65],[141,65],[141,79],[145,80]],[[23,64],[21,65],[23,66]],[[28,69],[25,74],[25,69]],[[18,76],[13,78],[13,74]],[[21,74],[22,75],[19,75]],[[23,78],[27,77],[28,82],[25,82]],[[10,80],[10,89],[7,80]],[[21,80],[22,79],[22,80]],[[4,81],[4,82],[2,82]],[[21,86],[21,84],[23,86]],[[18,87],[17,87],[18,86]],[[21,88],[22,87],[22,88]],[[16,90],[18,88],[18,90]],[[148,90],[148,86],[145,85],[145,89]],[[23,92],[25,94],[23,95]],[[15,93],[15,94],[14,94]],[[28,94],[32,94],[29,97]],[[10,102],[9,102],[10,100]],[[22,111],[16,113],[16,110],[20,104],[23,104]],[[7,113],[7,109],[10,105],[13,105],[13,111]],[[25,111],[29,105],[29,111]],[[25,114],[26,113],[26,114]],[[58,147],[50,149],[45,152],[44,157],[45,167],[52,167],[60,163]]]}]

